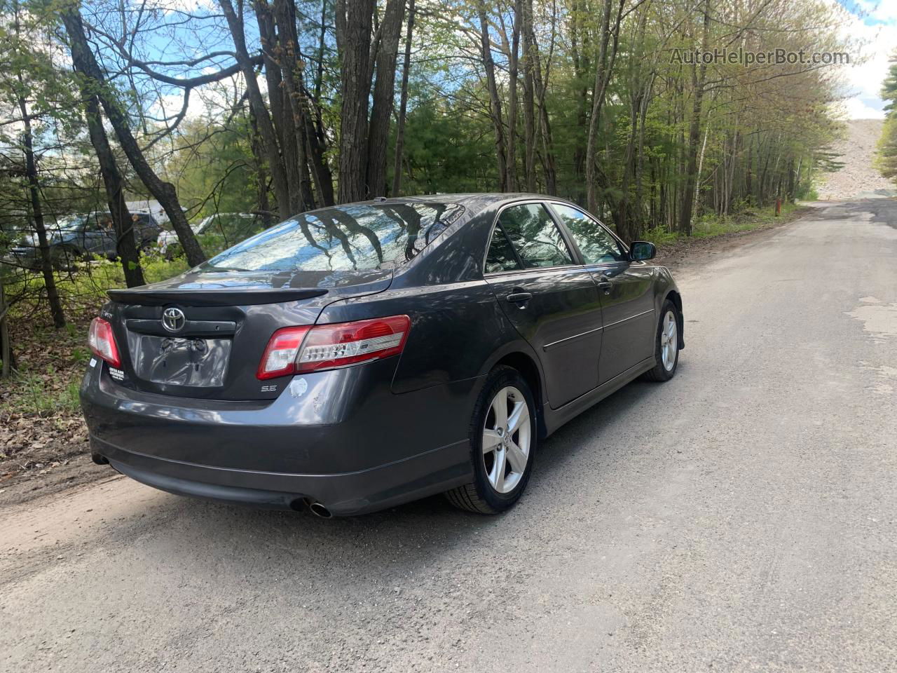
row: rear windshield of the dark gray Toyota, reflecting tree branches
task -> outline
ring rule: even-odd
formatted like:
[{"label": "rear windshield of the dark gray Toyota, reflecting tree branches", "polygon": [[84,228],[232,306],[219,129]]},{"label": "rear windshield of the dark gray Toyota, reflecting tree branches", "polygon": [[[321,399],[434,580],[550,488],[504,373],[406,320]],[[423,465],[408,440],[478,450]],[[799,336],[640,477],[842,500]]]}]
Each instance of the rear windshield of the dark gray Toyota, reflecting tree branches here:
[{"label": "rear windshield of the dark gray Toyota, reflecting tree branches", "polygon": [[337,205],[297,215],[210,259],[207,270],[348,271],[414,258],[463,205]]}]

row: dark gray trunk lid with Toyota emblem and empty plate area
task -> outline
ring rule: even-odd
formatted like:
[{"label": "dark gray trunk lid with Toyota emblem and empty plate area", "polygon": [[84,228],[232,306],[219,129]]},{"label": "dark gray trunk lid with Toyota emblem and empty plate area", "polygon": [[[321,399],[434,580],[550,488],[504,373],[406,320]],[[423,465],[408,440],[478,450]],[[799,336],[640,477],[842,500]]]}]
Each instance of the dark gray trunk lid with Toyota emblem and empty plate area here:
[{"label": "dark gray trunk lid with Toyota emblem and empty plate area", "polygon": [[[311,325],[327,304],[379,293],[392,271],[193,271],[111,290],[103,310],[121,351],[119,385],[191,398],[267,399],[286,380],[261,381],[258,363],[278,328]],[[286,377],[288,379],[288,377]]]}]

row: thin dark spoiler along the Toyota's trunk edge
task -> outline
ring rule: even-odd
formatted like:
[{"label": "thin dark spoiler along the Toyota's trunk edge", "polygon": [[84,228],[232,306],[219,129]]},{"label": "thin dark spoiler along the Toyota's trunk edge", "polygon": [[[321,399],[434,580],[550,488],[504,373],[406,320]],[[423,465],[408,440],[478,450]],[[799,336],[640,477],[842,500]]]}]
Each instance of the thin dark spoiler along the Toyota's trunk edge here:
[{"label": "thin dark spoiler along the Toyota's trunk edge", "polygon": [[109,290],[113,302],[141,304],[144,306],[165,306],[183,304],[185,306],[248,306],[249,304],[274,304],[298,302],[327,294],[318,287],[279,289],[239,289],[239,290]]}]

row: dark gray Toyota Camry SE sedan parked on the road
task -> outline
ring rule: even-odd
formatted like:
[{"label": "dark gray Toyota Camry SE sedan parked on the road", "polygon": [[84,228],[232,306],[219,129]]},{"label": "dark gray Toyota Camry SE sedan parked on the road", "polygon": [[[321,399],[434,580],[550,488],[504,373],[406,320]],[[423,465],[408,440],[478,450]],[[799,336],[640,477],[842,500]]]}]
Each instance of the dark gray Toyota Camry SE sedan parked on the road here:
[{"label": "dark gray Toyota Camry SE sedan parked on the road", "polygon": [[538,195],[296,215],[109,292],[81,388],[92,457],[170,493],[323,517],[438,493],[507,510],[547,435],[674,376],[682,298],[655,254]]}]

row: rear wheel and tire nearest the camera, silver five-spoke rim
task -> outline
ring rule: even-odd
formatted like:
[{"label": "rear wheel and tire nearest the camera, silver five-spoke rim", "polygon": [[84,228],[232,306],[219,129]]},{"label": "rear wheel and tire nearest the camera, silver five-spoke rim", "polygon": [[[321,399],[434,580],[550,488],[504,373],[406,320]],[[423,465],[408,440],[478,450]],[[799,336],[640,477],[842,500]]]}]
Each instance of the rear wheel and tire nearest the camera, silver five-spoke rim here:
[{"label": "rear wheel and tire nearest the camera, silver five-spoke rim", "polygon": [[489,373],[468,433],[474,481],[448,491],[448,502],[478,514],[508,510],[527,487],[538,439],[536,402],[519,371],[500,366]]}]

